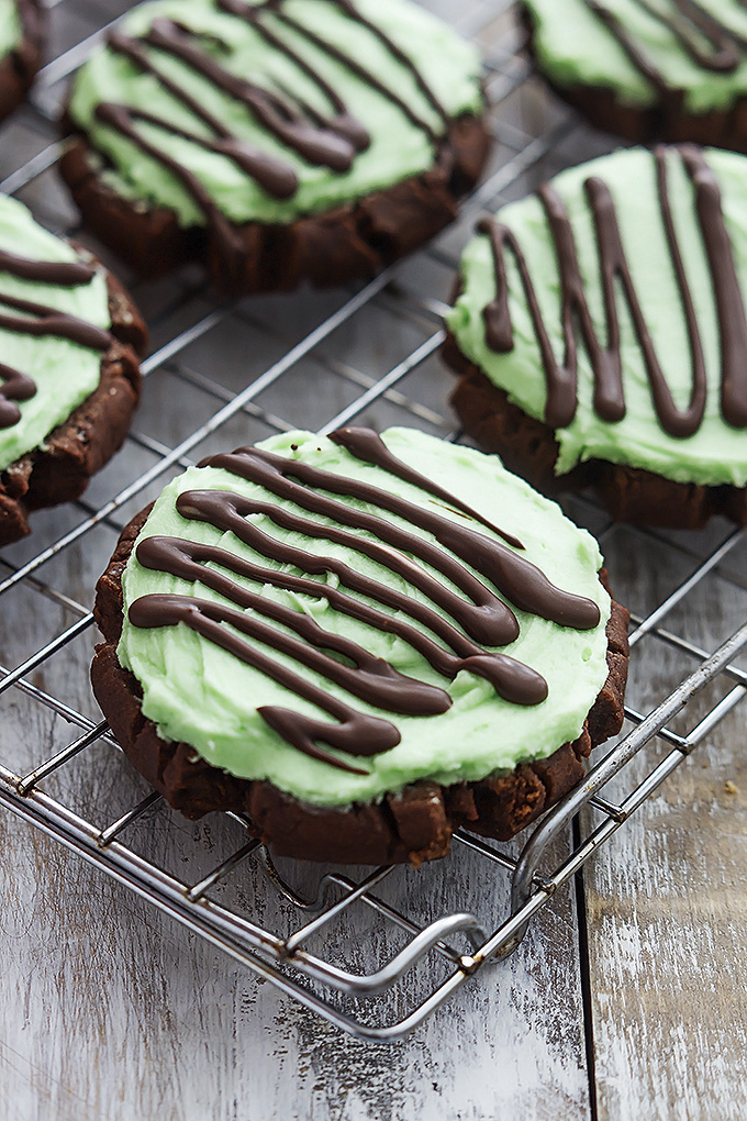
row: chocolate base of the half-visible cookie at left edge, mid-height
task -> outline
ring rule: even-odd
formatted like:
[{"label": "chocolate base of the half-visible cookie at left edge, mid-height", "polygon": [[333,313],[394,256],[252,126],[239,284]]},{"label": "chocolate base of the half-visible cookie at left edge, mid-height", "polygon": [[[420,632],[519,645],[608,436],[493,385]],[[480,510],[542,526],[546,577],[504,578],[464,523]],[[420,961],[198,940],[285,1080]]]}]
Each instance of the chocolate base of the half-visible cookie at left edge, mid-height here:
[{"label": "chocolate base of the half-visible cookie at left edge, mid-height", "polygon": [[0,545],[30,532],[32,510],[80,498],[128,434],[140,396],[138,354],[147,349],[148,330],[109,271],[106,287],[113,341],[101,359],[99,386],[43,445],[0,472]]}]

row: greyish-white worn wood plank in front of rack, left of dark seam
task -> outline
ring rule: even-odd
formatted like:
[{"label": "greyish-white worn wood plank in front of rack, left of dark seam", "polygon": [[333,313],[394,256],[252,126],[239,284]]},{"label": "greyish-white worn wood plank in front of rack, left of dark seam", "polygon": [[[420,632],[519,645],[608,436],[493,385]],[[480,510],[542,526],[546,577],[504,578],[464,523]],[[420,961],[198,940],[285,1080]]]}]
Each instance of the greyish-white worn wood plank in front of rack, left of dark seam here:
[{"label": "greyish-white worn wood plank in front of rack, left of dark seam", "polygon": [[372,1047],[27,826],[0,822],[13,854],[1,873],[2,1115],[589,1117],[570,896],[511,964],[408,1040]]}]

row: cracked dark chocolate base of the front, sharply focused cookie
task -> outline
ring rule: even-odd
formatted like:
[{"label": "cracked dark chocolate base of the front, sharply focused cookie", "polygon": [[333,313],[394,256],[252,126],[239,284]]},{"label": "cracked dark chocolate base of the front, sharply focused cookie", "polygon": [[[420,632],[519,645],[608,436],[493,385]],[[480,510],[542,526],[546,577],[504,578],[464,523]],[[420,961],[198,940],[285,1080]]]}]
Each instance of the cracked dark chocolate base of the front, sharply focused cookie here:
[{"label": "cracked dark chocolate base of the front, sharply focused cookie", "polygon": [[[149,509],[141,511],[125,527],[96,586],[94,613],[106,641],[96,647],[91,679],[130,761],[186,817],[202,817],[215,809],[244,813],[254,835],[281,856],[353,864],[410,861],[418,865],[445,856],[459,826],[502,841],[512,837],[581,780],[582,760],[591,748],[622,726],[628,613],[613,601],[605,686],[579,738],[547,759],[520,763],[507,775],[478,782],[447,787],[412,782],[381,802],[355,804],[348,809],[310,806],[270,782],[235,778],[206,763],[189,744],[167,742],[158,735],[156,724],[142,714],[138,680],[116,657],[122,573],[148,513]],[[606,584],[604,569],[600,580]]]}]

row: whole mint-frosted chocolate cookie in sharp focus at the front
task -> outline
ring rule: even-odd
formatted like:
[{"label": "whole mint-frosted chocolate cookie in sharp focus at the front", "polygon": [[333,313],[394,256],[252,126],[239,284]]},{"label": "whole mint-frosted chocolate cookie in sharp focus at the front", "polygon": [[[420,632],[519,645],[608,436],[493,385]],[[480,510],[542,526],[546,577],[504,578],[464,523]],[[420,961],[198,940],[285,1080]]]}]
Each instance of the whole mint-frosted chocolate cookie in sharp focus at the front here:
[{"label": "whole mint-frosted chocolate cookie in sharp focus at the front", "polygon": [[600,566],[495,457],[407,428],[283,434],[127,527],[94,692],[187,816],[242,810],[282,855],[418,864],[460,825],[512,836],[619,730],[627,612]]}]

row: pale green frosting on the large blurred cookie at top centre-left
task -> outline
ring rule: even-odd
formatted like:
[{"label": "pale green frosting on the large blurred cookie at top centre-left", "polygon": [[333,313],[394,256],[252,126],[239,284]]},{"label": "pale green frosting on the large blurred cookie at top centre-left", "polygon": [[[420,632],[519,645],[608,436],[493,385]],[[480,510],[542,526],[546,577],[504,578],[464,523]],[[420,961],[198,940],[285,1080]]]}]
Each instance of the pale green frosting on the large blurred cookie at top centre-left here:
[{"label": "pale green frosting on the large blurred cookie at top centre-left", "polygon": [[[482,111],[480,63],[473,46],[407,0],[356,0],[356,7],[411,56],[450,115]],[[437,132],[443,131],[439,115],[418,89],[411,72],[398,63],[370,30],[347,18],[335,2],[286,0],[282,11],[357,59]],[[316,83],[290,58],[272,49],[245,20],[218,10],[215,0],[189,0],[187,4],[184,0],[160,0],[142,4],[130,12],[120,29],[137,37],[146,33],[157,17],[169,17],[205,36],[202,49],[223,68],[249,77],[255,85],[283,98],[287,96],[284,91],[290,91],[317,112],[329,115],[329,102]],[[280,157],[299,177],[293,197],[278,201],[226,156],[206,151],[162,128],[139,122],[138,129],[146,139],[189,167],[223,214],[235,223],[289,223],[301,214],[361,198],[432,166],[433,143],[400,108],[339,61],[279,22],[277,17],[267,15],[264,21],[273,34],[324,75],[342,95],[348,111],[370,131],[372,142],[367,150],[356,155],[346,173],[312,166],[259,124],[244,105],[222,93],[185,63],[147,47],[158,67],[225,122],[232,133],[248,145]],[[227,52],[217,46],[221,40],[230,45]],[[211,137],[207,126],[157,78],[139,72],[128,58],[106,48],[97,50],[82,67],[71,99],[71,117],[111,161],[112,169],[106,172],[105,178],[118,193],[131,200],[168,206],[185,226],[204,225],[203,211],[162,164],[96,120],[95,110],[102,101],[144,110],[202,137]]]}]

